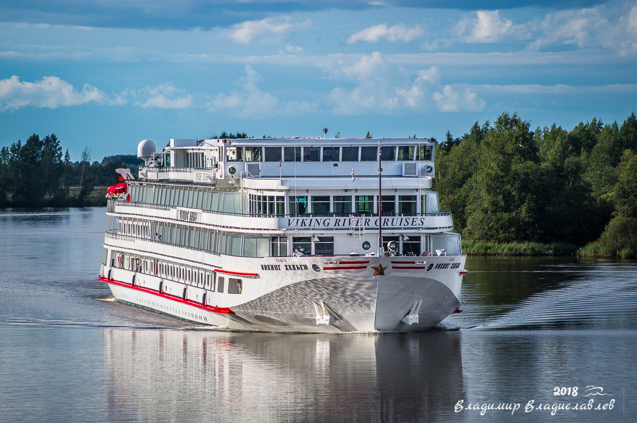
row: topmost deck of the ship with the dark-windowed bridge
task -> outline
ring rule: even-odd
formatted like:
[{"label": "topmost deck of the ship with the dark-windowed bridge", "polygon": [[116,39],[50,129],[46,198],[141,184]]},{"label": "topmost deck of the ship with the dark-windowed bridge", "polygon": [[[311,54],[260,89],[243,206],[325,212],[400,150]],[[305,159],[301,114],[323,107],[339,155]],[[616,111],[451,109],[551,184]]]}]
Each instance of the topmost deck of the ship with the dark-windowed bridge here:
[{"label": "topmost deck of the ship with the dark-windowed bridge", "polygon": [[[427,139],[171,139],[147,160],[152,180],[234,184],[240,179],[377,176],[434,177],[435,140]],[[431,184],[431,183],[429,183]]]}]

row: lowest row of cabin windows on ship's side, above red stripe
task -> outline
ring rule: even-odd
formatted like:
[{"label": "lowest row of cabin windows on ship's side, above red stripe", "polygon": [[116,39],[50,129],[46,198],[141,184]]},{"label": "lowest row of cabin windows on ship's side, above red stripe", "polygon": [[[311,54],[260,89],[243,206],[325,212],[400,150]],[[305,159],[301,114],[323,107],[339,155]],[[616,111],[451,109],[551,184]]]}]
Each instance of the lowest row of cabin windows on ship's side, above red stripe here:
[{"label": "lowest row of cabin windows on ship's side, above red stripe", "polygon": [[[108,250],[104,249],[104,257]],[[106,263],[104,263],[106,264]],[[175,263],[170,260],[163,260],[148,257],[140,254],[124,253],[122,251],[111,251],[111,267],[124,268],[133,272],[154,275],[162,279],[181,282],[208,289],[210,291],[224,292],[225,277],[219,276],[215,272],[192,265]],[[243,280],[228,278],[227,293],[241,294]]]}]

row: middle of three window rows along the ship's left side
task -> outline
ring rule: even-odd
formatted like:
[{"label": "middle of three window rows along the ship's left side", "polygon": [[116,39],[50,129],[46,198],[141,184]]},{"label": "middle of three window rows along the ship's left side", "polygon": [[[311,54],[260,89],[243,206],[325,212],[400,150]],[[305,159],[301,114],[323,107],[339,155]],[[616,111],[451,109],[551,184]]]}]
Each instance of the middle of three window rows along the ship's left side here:
[{"label": "middle of three window rows along the ship's left side", "polygon": [[[112,226],[112,223],[108,223]],[[174,246],[200,249],[216,254],[240,257],[287,256],[285,237],[263,237],[249,233],[224,232],[201,226],[180,225],[138,218],[117,218],[117,233],[143,239],[152,239]],[[142,237],[121,228],[147,228],[150,237]],[[285,240],[283,240],[285,239]]]}]

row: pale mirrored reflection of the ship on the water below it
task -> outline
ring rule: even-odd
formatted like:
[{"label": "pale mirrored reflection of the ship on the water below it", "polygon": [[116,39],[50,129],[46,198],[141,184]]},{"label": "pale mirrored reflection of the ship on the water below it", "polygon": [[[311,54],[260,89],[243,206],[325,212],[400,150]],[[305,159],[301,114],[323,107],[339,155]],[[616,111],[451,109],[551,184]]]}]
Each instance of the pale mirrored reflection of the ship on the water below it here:
[{"label": "pale mirrored reflection of the ship on the water below it", "polygon": [[108,329],[109,420],[454,420],[459,335]]}]

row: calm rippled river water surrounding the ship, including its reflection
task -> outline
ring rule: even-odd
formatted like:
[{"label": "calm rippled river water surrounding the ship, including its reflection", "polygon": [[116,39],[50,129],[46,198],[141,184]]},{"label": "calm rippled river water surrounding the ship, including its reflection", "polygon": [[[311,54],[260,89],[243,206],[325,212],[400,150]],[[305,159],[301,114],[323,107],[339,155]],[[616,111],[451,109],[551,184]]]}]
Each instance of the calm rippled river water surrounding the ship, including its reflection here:
[{"label": "calm rippled river water surrounding the ship, including its reflection", "polygon": [[232,332],[114,302],[104,216],[0,211],[0,422],[637,421],[635,261],[469,257],[427,333]]}]

